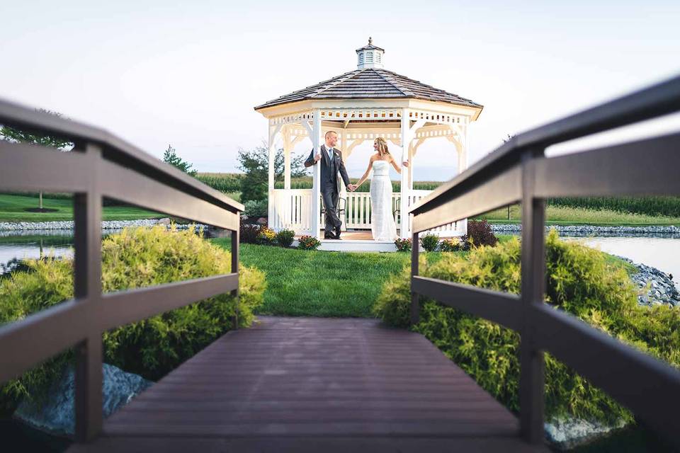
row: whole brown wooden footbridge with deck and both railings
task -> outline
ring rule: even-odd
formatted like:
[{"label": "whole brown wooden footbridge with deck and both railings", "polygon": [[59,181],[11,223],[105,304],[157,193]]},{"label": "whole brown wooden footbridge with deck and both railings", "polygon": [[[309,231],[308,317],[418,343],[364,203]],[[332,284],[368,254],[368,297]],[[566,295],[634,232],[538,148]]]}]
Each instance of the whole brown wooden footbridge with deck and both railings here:
[{"label": "whole brown wooden footbridge with deck and both railings", "polygon": [[[243,205],[106,131],[0,101],[0,124],[74,151],[0,142],[0,190],[74,193],[74,299],[0,327],[0,382],[76,354],[72,451],[544,451],[544,352],[680,447],[680,373],[545,304],[545,199],[680,195],[680,134],[545,157],[546,147],[680,110],[680,78],[520,134],[409,210],[412,322],[422,296],[521,336],[519,420],[416,333],[372,320],[264,318],[102,416],[103,331],[238,297]],[[102,294],[103,197],[232,231],[232,272]],[[418,275],[419,234],[522,204],[521,295]],[[235,323],[235,325],[237,325]]]}]

